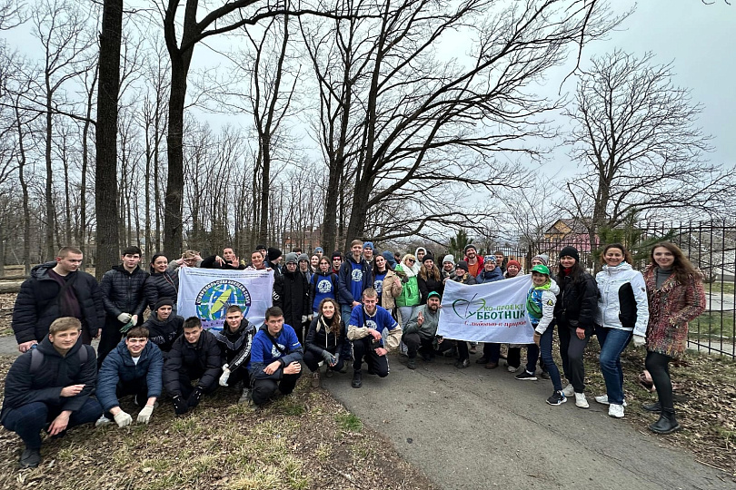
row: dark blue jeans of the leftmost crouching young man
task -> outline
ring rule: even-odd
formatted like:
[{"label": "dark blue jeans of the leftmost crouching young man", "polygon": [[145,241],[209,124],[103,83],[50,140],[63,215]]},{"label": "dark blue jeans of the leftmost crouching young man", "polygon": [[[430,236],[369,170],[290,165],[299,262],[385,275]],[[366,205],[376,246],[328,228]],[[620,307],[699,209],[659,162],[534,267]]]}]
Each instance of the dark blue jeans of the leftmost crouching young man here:
[{"label": "dark blue jeans of the leftmost crouching young man", "polygon": [[[61,389],[61,388],[59,388]],[[41,448],[41,429],[53,422],[62,412],[60,405],[49,406],[44,402],[32,402],[17,408],[10,408],[5,415],[3,425],[6,429],[15,432],[28,449]],[[94,422],[102,415],[99,402],[88,397],[79,410],[69,416],[69,425],[66,428],[81,426]]]}]

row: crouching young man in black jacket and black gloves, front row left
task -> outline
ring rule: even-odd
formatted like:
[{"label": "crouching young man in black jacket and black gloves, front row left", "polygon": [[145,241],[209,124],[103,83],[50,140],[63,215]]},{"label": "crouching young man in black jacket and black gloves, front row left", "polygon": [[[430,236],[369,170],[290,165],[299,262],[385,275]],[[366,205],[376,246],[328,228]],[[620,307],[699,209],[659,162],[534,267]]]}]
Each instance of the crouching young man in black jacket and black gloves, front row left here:
[{"label": "crouching young man in black jacket and black gloves, front row left", "polygon": [[[199,405],[204,394],[214,391],[222,364],[220,346],[214,335],[202,328],[200,319],[185,319],[184,334],[174,341],[164,361],[164,387],[174,398],[176,415],[184,415]],[[194,379],[197,383],[192,387]]]}]

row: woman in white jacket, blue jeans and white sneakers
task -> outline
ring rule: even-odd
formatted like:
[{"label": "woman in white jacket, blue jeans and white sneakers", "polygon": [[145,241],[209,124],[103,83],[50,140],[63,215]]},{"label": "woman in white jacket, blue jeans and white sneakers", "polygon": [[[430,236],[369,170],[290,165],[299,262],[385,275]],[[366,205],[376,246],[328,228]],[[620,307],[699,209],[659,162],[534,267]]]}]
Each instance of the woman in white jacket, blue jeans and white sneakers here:
[{"label": "woman in white jacket, blue jeans and white sneakers", "polygon": [[606,394],[595,401],[608,405],[608,415],[623,417],[621,353],[632,335],[646,335],[649,304],[644,277],[632,269],[632,254],[621,243],[606,245],[601,254],[603,270],[596,274],[598,315],[595,334],[601,344],[601,371]]}]

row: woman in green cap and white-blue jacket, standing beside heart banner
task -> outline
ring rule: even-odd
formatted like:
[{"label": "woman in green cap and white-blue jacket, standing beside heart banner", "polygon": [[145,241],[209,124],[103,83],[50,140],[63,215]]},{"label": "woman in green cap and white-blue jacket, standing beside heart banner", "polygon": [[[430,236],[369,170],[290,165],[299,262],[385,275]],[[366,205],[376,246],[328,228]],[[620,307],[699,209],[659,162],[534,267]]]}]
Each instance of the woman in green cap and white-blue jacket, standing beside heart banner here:
[{"label": "woman in green cap and white-blue jacket, standing beside heart banner", "polygon": [[[554,305],[557,302],[557,294],[560,287],[554,280],[550,279],[550,269],[545,265],[532,267],[532,288],[526,295],[526,310],[529,313],[529,321],[534,328],[534,343],[542,351],[544,368],[550,373],[554,393],[547,398],[550,405],[562,405],[567,398],[562,394],[562,379],[560,369],[554,364],[552,358],[552,319],[554,319]],[[527,374],[528,370],[524,371]],[[521,375],[520,375],[521,376]]]}]

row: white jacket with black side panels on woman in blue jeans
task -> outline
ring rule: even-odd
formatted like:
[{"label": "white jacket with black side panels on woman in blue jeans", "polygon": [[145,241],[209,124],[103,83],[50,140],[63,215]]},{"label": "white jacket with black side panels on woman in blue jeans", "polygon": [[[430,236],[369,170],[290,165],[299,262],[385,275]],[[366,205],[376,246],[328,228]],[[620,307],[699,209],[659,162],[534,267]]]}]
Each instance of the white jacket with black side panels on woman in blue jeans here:
[{"label": "white jacket with black side panels on woman in blue jeans", "polygon": [[598,298],[596,324],[603,328],[632,331],[644,337],[649,321],[649,304],[644,277],[628,262],[616,267],[603,266],[595,275],[601,295]]}]

